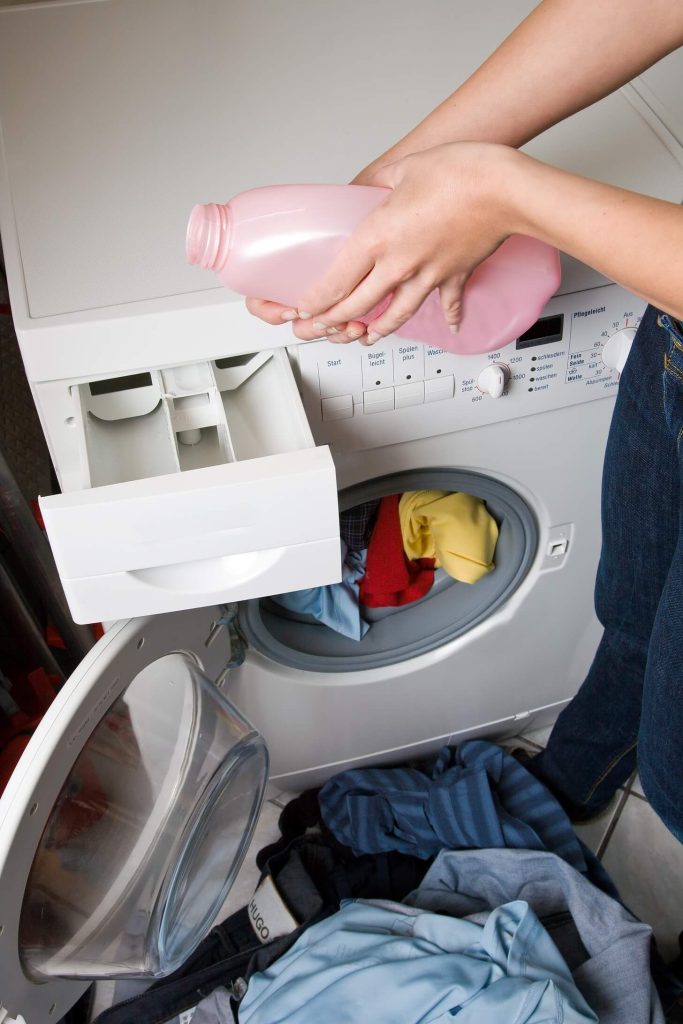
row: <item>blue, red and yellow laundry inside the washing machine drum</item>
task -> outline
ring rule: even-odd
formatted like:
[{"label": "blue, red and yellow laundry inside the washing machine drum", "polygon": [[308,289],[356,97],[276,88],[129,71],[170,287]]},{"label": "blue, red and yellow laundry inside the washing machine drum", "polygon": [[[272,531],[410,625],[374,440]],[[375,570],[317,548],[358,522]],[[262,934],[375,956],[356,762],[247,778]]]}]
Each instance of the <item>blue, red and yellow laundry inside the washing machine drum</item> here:
[{"label": "blue, red and yellow laundry inside the washing machine drum", "polygon": [[272,600],[352,640],[370,629],[362,608],[393,608],[424,597],[434,570],[461,583],[490,572],[498,525],[480,498],[411,490],[340,515],[342,581]]}]

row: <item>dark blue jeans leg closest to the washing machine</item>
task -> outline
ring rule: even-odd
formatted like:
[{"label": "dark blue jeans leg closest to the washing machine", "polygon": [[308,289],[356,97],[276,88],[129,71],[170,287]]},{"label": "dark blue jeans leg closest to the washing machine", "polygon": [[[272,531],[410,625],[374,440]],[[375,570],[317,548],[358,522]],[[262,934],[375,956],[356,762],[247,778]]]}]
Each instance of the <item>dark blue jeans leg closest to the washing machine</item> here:
[{"label": "dark blue jeans leg closest to the washing machine", "polygon": [[622,375],[605,453],[595,591],[603,637],[546,750],[529,763],[574,814],[603,807],[636,767],[650,634],[679,515],[676,443],[664,416],[670,345],[648,308]]}]

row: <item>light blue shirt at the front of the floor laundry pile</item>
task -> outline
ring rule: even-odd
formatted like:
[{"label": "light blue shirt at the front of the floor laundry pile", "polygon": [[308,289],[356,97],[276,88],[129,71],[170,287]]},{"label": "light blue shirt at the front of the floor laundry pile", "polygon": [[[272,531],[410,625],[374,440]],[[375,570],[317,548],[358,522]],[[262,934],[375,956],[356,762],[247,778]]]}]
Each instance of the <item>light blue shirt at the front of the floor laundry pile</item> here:
[{"label": "light blue shirt at the front of the floor laundry pile", "polygon": [[522,900],[479,925],[401,903],[345,903],[313,925],[240,1006],[241,1024],[596,1022]]}]

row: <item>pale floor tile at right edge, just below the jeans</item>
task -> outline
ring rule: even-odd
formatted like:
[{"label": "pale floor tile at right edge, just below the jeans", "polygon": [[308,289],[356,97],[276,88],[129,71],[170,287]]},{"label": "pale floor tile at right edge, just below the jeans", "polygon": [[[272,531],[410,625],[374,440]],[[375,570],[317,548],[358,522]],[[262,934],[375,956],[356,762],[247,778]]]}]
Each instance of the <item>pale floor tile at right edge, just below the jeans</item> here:
[{"label": "pale floor tile at right edge, just below the jeans", "polygon": [[652,927],[665,959],[676,955],[683,931],[683,845],[646,801],[629,797],[602,863],[627,906]]}]

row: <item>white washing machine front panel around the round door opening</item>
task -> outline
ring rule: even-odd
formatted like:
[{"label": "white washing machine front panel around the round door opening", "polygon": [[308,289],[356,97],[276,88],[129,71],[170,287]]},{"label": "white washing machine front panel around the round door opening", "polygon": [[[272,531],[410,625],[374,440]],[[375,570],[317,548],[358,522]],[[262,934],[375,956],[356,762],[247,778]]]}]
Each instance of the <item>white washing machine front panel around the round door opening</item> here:
[{"label": "white washing machine front panel around the round door opening", "polygon": [[[361,457],[340,454],[342,489],[434,466],[490,475],[532,508],[539,551],[522,585],[493,615],[390,671],[302,673],[252,649],[227,690],[265,737],[275,784],[301,791],[372,758],[399,763],[489,728],[512,734],[515,716],[552,706],[558,712],[575,693],[600,638],[593,588],[612,409],[607,397]],[[559,535],[569,537],[566,555],[548,564]]]}]

